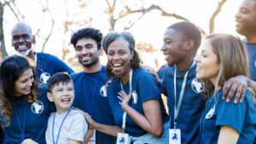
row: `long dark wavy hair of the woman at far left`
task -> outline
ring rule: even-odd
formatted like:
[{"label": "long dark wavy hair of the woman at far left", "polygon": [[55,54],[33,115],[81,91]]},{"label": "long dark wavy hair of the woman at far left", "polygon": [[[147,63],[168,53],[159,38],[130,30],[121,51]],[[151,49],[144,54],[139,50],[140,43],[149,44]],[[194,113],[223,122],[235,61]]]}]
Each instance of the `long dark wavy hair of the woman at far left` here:
[{"label": "long dark wavy hair of the woman at far left", "polygon": [[[13,55],[2,61],[0,66],[0,113],[4,121],[9,125],[10,116],[14,112],[13,102],[15,101],[15,82],[20,78],[23,72],[34,68],[31,61],[26,57]],[[38,81],[33,75],[32,90],[29,95],[23,95],[27,103],[38,101]]]}]

